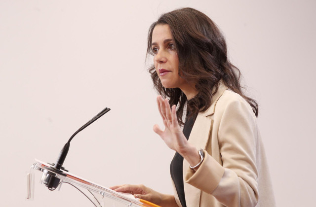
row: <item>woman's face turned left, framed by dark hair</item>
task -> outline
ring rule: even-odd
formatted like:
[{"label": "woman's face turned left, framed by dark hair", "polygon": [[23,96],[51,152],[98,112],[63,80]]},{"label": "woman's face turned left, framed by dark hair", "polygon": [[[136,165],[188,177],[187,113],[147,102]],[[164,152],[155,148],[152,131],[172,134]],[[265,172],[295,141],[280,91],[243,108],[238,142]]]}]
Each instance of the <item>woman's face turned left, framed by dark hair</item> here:
[{"label": "woman's face turned left, framed by dark hair", "polygon": [[152,35],[152,51],[158,77],[165,88],[182,88],[187,82],[178,74],[179,58],[175,50],[170,27],[156,25]]}]

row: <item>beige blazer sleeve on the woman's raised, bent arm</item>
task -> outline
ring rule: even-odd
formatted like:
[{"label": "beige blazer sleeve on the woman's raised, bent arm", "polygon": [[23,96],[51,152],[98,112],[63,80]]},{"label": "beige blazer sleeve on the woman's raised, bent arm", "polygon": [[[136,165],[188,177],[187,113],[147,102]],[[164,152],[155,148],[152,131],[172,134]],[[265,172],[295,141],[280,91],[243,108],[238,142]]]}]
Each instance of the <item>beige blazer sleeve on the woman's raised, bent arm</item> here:
[{"label": "beige blazer sleeve on the woman's raised, bent arm", "polygon": [[257,136],[250,105],[241,97],[229,102],[223,107],[218,127],[223,166],[205,151],[201,166],[196,172],[188,169],[185,181],[227,207],[255,207],[259,199]]}]

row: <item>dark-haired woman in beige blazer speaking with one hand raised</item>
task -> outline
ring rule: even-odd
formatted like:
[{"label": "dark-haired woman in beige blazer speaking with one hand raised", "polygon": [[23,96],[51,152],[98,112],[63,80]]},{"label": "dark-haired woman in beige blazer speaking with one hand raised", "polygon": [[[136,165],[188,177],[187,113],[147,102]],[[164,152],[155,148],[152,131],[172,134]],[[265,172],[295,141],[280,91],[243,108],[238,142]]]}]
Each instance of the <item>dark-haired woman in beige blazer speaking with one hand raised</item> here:
[{"label": "dark-haired woman in beige blazer speaking with one hand raised", "polygon": [[155,88],[169,99],[157,98],[165,129],[155,125],[154,131],[176,151],[174,195],[143,185],[112,189],[162,207],[275,206],[258,105],[243,94],[239,70],[212,20],[193,8],[165,13],[149,30],[147,52],[154,55]]}]

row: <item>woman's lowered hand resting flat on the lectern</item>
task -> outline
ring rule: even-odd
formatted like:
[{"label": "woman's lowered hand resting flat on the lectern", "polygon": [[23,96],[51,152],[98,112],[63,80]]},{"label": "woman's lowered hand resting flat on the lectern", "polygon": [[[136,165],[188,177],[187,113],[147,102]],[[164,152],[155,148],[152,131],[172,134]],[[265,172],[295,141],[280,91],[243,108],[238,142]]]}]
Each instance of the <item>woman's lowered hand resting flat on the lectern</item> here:
[{"label": "woman's lowered hand resting flat on the lectern", "polygon": [[145,185],[116,185],[110,187],[110,189],[116,192],[133,194],[135,198],[143,199],[159,206],[177,206],[174,196],[159,193]]}]

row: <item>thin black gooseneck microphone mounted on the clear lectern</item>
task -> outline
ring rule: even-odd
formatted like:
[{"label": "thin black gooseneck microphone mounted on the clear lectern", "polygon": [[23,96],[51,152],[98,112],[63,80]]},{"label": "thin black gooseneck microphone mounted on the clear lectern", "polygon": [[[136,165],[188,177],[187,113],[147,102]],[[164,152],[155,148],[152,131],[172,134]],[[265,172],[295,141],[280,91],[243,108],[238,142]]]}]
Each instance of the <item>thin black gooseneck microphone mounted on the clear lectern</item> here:
[{"label": "thin black gooseneck microphone mounted on the clear lectern", "polygon": [[[92,119],[90,119],[90,121],[88,121],[85,125],[83,125],[82,127],[79,128],[79,130],[77,130],[77,132],[75,132],[67,141],[67,143],[64,145],[64,147],[62,148],[62,150],[59,153],[58,159],[56,161],[56,164],[54,165],[54,167],[50,167],[51,170],[55,173],[62,173],[63,172],[60,170],[64,170],[64,168],[62,167],[64,164],[64,161],[66,159],[67,153],[69,151],[69,146],[70,146],[70,141],[83,129],[85,129],[87,126],[89,126],[90,124],[92,124],[94,121],[96,121],[98,118],[100,118],[101,116],[103,116],[105,113],[107,113],[109,110],[111,110],[110,108],[106,107],[105,109],[103,109],[100,113],[98,113],[97,115],[95,115]],[[67,171],[67,170],[65,170]],[[55,190],[58,185],[59,185],[59,181],[60,179],[51,175],[51,174],[47,174],[46,177],[43,180],[43,183],[48,187],[49,190]]]}]

